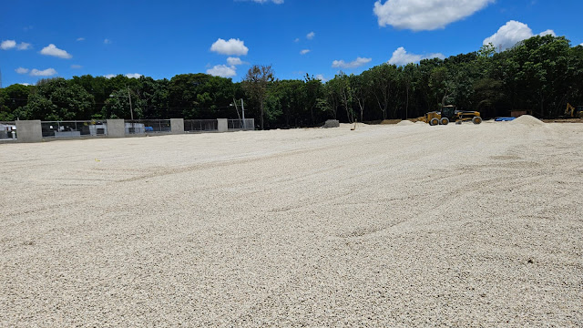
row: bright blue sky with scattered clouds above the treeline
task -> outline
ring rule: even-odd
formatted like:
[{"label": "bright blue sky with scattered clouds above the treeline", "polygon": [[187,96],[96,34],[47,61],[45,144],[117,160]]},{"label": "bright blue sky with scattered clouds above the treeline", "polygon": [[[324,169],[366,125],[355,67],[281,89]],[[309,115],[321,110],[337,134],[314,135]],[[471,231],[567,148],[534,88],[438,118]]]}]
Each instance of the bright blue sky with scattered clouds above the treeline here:
[{"label": "bright blue sky with scattered clouds above the treeline", "polygon": [[543,32],[583,43],[583,4],[567,0],[13,0],[1,10],[4,87],[85,74],[240,81],[251,64],[327,79],[475,51],[488,37],[499,48]]}]

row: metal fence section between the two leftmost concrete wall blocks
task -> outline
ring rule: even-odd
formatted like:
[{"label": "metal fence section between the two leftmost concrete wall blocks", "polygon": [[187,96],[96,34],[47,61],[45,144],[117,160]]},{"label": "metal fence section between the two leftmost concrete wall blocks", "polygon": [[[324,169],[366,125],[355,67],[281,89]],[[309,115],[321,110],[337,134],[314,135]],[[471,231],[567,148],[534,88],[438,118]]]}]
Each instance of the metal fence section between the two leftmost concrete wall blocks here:
[{"label": "metal fence section between the two leftmost concrete wall blocks", "polygon": [[80,138],[107,136],[107,123],[101,120],[42,121],[43,138]]}]

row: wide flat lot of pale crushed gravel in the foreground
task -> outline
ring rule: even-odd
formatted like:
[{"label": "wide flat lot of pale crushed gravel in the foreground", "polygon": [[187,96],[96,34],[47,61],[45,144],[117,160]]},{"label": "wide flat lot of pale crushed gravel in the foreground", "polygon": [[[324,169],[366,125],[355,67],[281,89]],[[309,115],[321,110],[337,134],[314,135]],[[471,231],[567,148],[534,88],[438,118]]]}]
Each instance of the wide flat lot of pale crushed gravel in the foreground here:
[{"label": "wide flat lot of pale crushed gravel in the foreground", "polygon": [[582,326],[583,124],[0,145],[0,326]]}]

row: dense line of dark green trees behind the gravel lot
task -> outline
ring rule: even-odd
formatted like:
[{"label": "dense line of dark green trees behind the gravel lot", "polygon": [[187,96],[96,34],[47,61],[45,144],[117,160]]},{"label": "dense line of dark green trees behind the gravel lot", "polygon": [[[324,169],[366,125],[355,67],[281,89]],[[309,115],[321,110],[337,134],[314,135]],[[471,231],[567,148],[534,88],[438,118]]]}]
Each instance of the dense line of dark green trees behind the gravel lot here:
[{"label": "dense line of dark green trees behind the gravel lot", "polygon": [[[130,118],[238,118],[230,104],[244,99],[246,117],[264,128],[416,118],[455,104],[484,118],[528,110],[557,118],[568,102],[583,105],[583,46],[564,36],[534,36],[506,51],[483,46],[469,54],[383,64],[360,75],[339,72],[280,80],[271,67],[251,67],[241,82],[206,74],[171,79],[82,76],[0,89],[0,121]],[[261,119],[263,118],[263,119]]]}]

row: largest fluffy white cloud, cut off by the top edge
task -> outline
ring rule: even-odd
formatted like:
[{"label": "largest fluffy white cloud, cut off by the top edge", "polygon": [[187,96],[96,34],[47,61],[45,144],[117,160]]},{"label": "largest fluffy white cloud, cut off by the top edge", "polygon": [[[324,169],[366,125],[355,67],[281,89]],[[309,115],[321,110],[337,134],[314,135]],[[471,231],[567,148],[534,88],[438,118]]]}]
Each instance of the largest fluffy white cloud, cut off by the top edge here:
[{"label": "largest fluffy white cloud, cut off by the top edge", "polygon": [[474,15],[495,0],[387,0],[374,3],[379,26],[394,26],[414,31],[444,28]]}]

